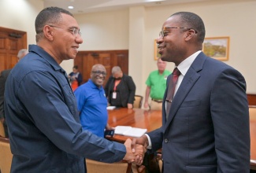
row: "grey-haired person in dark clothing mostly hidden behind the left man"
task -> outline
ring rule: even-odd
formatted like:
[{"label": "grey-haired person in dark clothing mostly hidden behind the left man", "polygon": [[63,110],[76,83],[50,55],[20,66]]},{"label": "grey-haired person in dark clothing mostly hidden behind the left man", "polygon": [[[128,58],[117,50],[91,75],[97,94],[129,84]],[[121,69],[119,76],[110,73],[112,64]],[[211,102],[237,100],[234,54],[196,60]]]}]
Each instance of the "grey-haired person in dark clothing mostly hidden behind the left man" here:
[{"label": "grey-haired person in dark clothing mostly hidden behind the left man", "polygon": [[[24,57],[28,53],[28,50],[22,49],[17,54],[17,59],[20,61],[22,57]],[[5,137],[9,138],[8,135],[8,129],[7,124],[5,120],[5,110],[4,110],[4,93],[5,93],[5,85],[6,85],[6,79],[9,75],[9,72],[11,72],[11,69],[3,70],[0,75],[0,121],[3,123],[3,127],[5,130]]]}]

